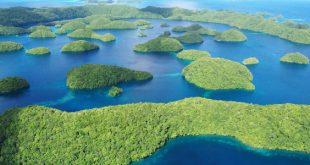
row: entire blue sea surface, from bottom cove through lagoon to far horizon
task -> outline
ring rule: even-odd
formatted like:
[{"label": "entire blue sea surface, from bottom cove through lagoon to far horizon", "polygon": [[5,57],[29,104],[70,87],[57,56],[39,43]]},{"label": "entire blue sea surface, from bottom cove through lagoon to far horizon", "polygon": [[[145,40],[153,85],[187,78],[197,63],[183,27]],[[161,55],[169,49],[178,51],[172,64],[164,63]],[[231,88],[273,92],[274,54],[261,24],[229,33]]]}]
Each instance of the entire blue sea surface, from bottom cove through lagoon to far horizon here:
[{"label": "entire blue sea surface, from bottom cove through lagoon to far horizon", "polygon": [[[262,0],[264,2],[264,0]],[[310,22],[309,1],[185,1],[158,0],[130,3],[137,7],[148,5],[191,9],[232,9],[243,12],[270,12],[282,14],[286,18],[300,22]],[[268,1],[269,2],[269,1]],[[83,5],[79,0],[2,0],[1,7],[11,6],[71,6]],[[185,45],[185,49],[209,51],[213,57],[227,58],[241,62],[248,57],[256,57],[260,64],[250,66],[256,86],[254,92],[241,90],[208,91],[189,84],[182,77],[182,69],[187,61],[176,58],[173,53],[135,53],[136,44],[146,42],[178,25],[191,25],[189,21],[165,21],[169,28],[160,27],[162,20],[150,20],[154,29],[143,31],[146,38],[137,37],[139,30],[103,30],[100,34],[112,33],[117,41],[103,43],[89,40],[100,46],[100,50],[84,54],[63,54],[60,49],[76,39],[58,35],[55,39],[31,39],[27,35],[0,37],[0,41],[22,43],[25,49],[37,46],[49,47],[50,56],[34,57],[24,51],[0,55],[0,78],[22,76],[29,80],[31,87],[25,91],[0,96],[0,114],[8,108],[38,104],[58,108],[63,111],[79,111],[108,105],[137,102],[170,102],[187,97],[205,97],[210,99],[241,101],[255,104],[296,103],[310,104],[310,66],[280,63],[280,57],[289,52],[301,52],[310,58],[310,46],[292,43],[270,35],[243,31],[248,41],[244,43],[218,43],[213,37],[204,36],[205,42],[197,45]],[[199,23],[216,30],[230,27],[220,24]],[[181,35],[172,33],[173,36]],[[120,84],[124,93],[117,98],[107,96],[107,88],[92,91],[72,91],[66,87],[66,74],[82,64],[110,64],[131,69],[149,71],[154,75],[150,81],[142,83]],[[210,165],[303,165],[310,164],[309,154],[285,151],[256,150],[223,137],[181,137],[169,140],[167,145],[152,156],[137,164],[210,164]]]}]

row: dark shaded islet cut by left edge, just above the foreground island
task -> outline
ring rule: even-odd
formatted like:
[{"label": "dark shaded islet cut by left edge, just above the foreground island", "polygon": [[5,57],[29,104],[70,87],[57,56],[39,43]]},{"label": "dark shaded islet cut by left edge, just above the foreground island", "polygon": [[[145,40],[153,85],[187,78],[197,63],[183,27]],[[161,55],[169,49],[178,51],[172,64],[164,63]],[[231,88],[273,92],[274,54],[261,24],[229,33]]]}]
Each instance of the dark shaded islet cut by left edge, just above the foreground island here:
[{"label": "dark shaded islet cut by left edge, just above the foreground island", "polygon": [[10,94],[26,88],[29,88],[29,83],[21,77],[6,77],[0,79],[0,94]]}]

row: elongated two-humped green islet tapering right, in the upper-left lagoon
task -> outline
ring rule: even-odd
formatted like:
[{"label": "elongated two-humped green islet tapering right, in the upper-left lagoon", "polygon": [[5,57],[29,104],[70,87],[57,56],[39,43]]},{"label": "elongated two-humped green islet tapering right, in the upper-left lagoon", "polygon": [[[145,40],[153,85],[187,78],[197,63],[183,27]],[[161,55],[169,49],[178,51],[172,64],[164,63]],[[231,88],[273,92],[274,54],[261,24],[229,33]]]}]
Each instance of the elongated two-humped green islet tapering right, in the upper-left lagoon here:
[{"label": "elongated two-humped green islet tapering right, in the upper-left lagoon", "polygon": [[93,32],[90,29],[77,29],[77,30],[73,31],[72,33],[69,33],[68,37],[80,38],[80,39],[85,39],[85,38],[97,39],[97,40],[101,40],[103,42],[111,42],[111,41],[116,40],[115,36],[110,34],[110,33],[100,35],[100,34]]}]

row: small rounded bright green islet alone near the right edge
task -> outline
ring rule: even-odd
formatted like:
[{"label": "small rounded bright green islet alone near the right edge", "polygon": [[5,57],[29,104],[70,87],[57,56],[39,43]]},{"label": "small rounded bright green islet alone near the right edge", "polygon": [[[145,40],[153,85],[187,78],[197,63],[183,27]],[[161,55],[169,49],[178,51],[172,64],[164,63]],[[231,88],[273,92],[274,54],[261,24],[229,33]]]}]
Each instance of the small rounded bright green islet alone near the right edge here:
[{"label": "small rounded bright green islet alone near the right edge", "polygon": [[299,52],[288,53],[281,57],[280,61],[293,64],[309,64],[309,58]]}]

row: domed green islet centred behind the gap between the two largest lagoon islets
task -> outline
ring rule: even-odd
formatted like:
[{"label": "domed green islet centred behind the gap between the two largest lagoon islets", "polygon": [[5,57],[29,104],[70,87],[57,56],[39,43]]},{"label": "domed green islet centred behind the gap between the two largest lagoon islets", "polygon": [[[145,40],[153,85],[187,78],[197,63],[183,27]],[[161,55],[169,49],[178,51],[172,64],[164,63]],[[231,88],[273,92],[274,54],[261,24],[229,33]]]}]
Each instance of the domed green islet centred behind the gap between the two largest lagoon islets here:
[{"label": "domed green islet centred behind the gap between the two largest lagoon islets", "polygon": [[183,49],[183,45],[176,39],[170,37],[157,37],[144,44],[135,46],[136,52],[178,52]]}]

